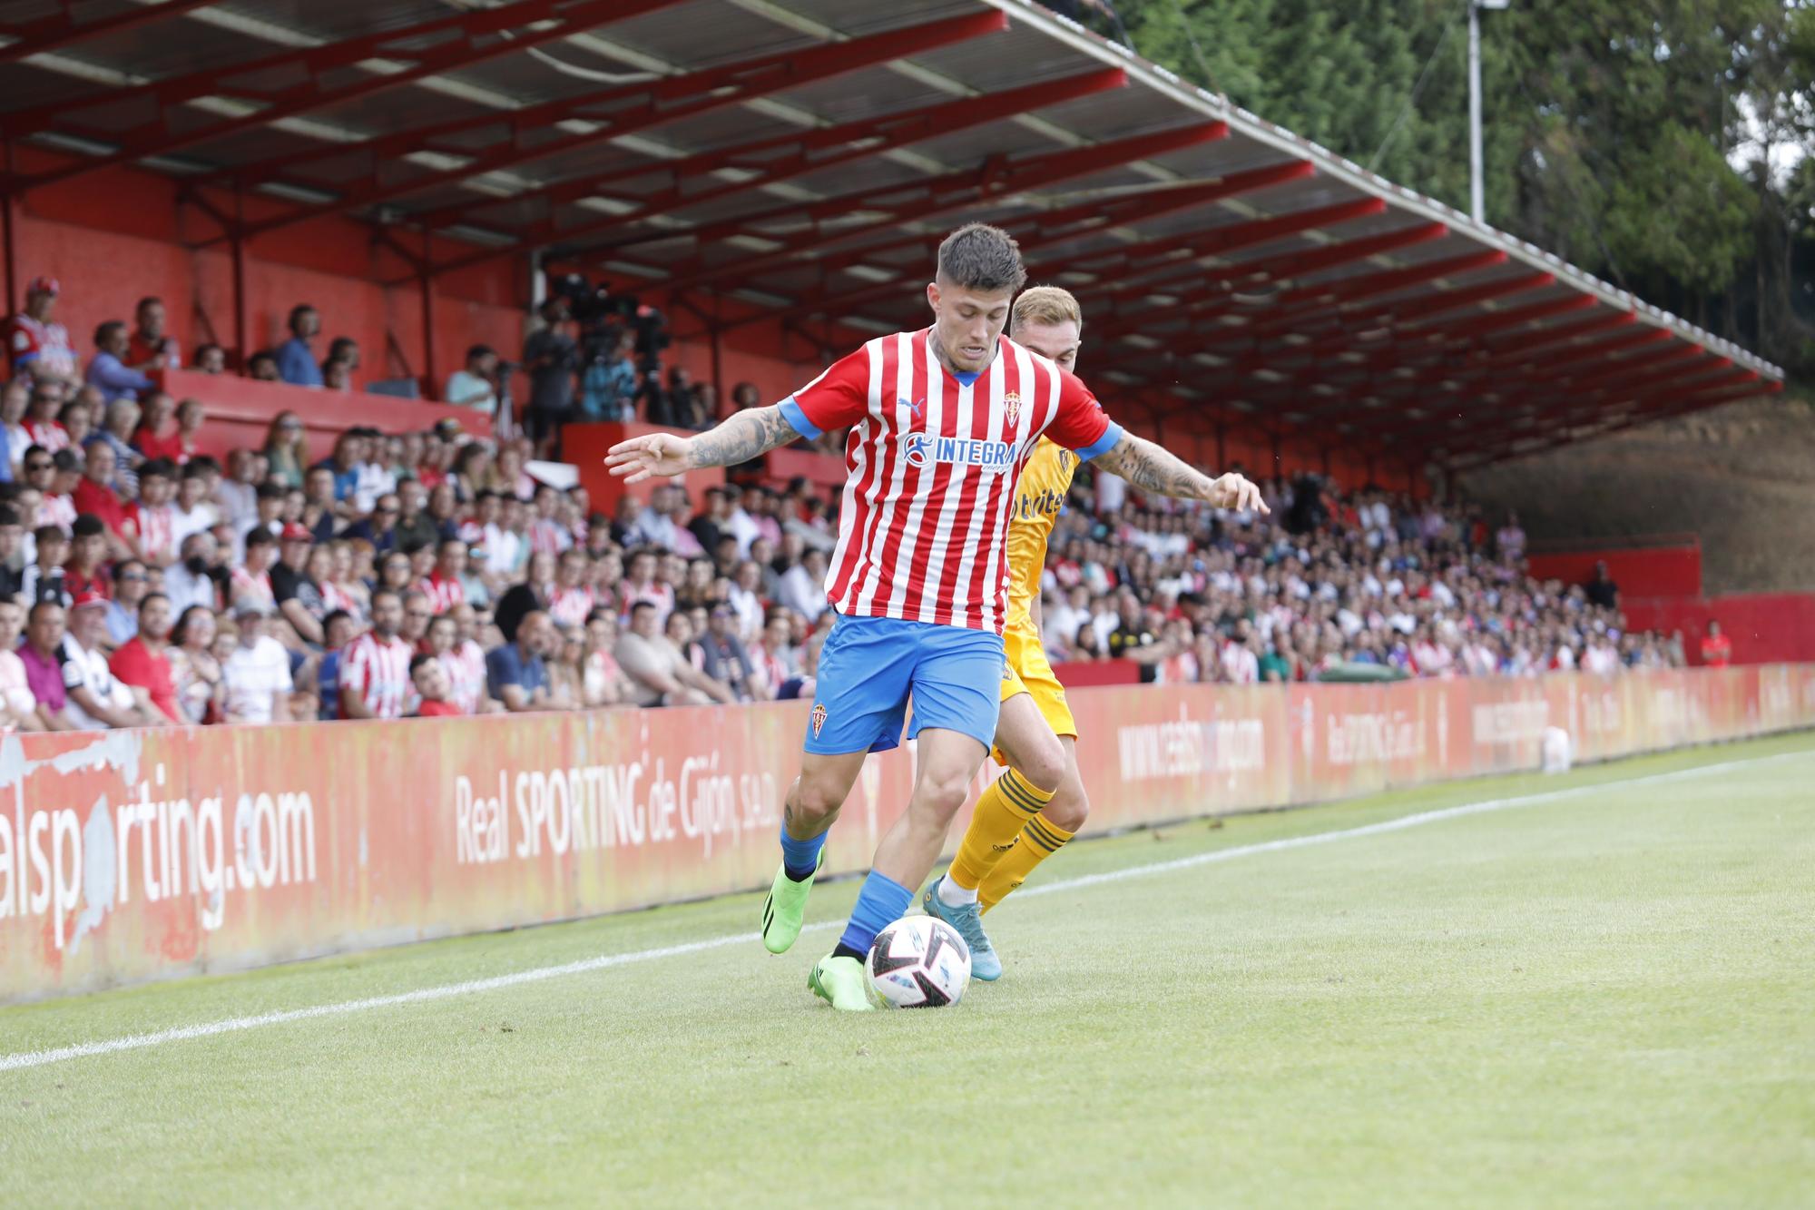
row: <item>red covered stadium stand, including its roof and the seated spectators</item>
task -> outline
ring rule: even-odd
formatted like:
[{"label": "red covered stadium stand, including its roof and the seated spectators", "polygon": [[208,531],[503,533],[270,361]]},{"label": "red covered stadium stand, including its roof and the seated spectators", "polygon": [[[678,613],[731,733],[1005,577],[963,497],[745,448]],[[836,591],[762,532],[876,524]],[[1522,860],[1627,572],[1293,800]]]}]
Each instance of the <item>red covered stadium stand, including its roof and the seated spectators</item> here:
[{"label": "red covered stadium stand, including its roof and the seated spectators", "polygon": [[54,687],[5,663],[9,725],[806,692],[837,434],[692,496],[537,456],[779,398],[911,322],[955,216],[1078,293],[1118,416],[1285,476],[1265,523],[1082,483],[1055,660],[1156,681],[1684,663],[1617,600],[1534,580],[1516,523],[1432,498],[1430,471],[1781,372],[1049,7],[263,7],[4,47],[18,96],[49,100],[0,114],[22,200],[0,589],[29,607],[22,652],[64,630],[114,652],[69,640]]}]

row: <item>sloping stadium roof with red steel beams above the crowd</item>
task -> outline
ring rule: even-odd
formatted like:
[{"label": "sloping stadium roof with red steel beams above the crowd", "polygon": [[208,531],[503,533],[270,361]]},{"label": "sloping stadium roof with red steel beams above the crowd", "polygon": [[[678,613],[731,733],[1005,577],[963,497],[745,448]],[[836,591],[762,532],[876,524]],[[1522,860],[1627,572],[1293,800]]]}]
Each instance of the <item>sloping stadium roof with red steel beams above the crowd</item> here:
[{"label": "sloping stadium roof with red steel beams above the crowd", "polygon": [[960,220],[1156,420],[1468,467],[1782,387],[1626,291],[1027,0],[36,0],[0,134],[543,253],[744,314],[918,323]]}]

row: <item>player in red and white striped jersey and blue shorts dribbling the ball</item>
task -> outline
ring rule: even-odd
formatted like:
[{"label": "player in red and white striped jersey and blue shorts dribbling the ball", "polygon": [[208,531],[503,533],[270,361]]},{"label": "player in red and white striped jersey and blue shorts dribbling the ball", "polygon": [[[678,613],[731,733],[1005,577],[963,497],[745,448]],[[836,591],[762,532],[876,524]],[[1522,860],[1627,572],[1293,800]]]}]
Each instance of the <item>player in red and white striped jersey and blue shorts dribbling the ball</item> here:
[{"label": "player in red and white striped jersey and blue shorts dribbling the ball", "polygon": [[868,342],[791,398],[693,438],[650,434],[606,463],[635,483],[755,458],[826,429],[846,440],[844,509],[826,581],[837,621],[820,650],[800,776],[782,812],[782,868],[762,941],[793,945],[826,828],[871,750],[918,739],[913,796],[882,843],[837,948],[809,985],[864,1010],[862,961],[906,914],[995,738],[1015,483],[1042,434],[1147,491],[1221,507],[1260,503],[1241,476],[1211,480],[1125,434],[1071,372],[1002,336],[1025,283],[1007,233],[971,223],[938,247],[933,325]]}]

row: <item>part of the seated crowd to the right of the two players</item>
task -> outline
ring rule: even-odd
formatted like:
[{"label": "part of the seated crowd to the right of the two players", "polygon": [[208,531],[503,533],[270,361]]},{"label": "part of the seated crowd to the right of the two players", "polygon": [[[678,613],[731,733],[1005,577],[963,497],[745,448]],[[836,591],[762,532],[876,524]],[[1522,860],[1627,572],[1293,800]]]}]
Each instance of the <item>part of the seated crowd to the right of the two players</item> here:
[{"label": "part of the seated crowd to the right of the two players", "polygon": [[[1238,467],[1240,469],[1240,467]],[[1263,483],[1270,516],[1074,485],[1044,574],[1055,661],[1122,656],[1143,681],[1535,676],[1683,667],[1681,634],[1632,632],[1604,569],[1526,572],[1525,531],[1472,507]]]}]

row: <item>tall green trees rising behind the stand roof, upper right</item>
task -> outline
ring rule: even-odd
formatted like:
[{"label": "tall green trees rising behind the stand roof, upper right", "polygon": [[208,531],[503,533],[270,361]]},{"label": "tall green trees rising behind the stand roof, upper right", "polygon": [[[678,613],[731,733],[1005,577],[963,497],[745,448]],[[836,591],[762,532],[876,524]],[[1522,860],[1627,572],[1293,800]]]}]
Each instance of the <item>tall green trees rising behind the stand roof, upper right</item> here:
[{"label": "tall green trees rising behind the stand roof, upper right", "polygon": [[[1467,209],[1465,0],[1122,15],[1149,58]],[[1815,369],[1808,0],[1514,0],[1481,31],[1488,222]]]}]

